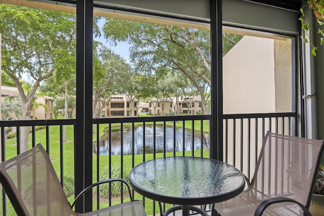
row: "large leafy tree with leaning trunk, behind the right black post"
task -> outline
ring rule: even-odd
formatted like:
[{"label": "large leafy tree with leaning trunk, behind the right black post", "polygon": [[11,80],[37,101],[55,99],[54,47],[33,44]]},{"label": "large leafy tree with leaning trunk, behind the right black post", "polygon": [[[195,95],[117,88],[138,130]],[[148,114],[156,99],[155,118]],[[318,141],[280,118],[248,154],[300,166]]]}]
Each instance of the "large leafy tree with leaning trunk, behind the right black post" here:
[{"label": "large leafy tree with leaning trunk, behind the right black post", "polygon": [[[211,89],[209,31],[109,18],[103,30],[105,37],[113,43],[127,41],[132,44],[131,60],[137,71],[152,73],[159,66],[169,67],[174,72],[181,71],[199,92],[203,114],[209,113],[206,104],[209,94],[205,92]],[[227,50],[240,38],[234,34],[223,34],[223,41],[226,40],[226,45],[229,45]]]}]

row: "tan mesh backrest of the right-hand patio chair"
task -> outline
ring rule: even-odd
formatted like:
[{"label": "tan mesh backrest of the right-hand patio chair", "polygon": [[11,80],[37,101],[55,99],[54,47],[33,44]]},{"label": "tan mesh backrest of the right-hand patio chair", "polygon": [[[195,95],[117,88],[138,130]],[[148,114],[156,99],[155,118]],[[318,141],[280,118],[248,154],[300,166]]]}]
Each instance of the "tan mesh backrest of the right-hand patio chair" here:
[{"label": "tan mesh backrest of the right-hand patio chair", "polygon": [[251,182],[259,198],[285,196],[309,207],[323,140],[268,132]]}]

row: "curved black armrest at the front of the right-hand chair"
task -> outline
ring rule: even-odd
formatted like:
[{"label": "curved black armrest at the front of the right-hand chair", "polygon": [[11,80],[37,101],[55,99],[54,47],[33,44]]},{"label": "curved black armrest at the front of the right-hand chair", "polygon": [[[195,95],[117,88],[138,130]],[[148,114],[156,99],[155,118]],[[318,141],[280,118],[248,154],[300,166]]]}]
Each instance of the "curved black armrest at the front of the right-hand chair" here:
[{"label": "curved black armrest at the front of the right-hand chair", "polygon": [[257,209],[254,212],[254,216],[261,216],[263,211],[266,209],[266,207],[268,207],[269,205],[273,204],[273,203],[279,203],[279,202],[294,202],[296,204],[298,204],[304,211],[304,215],[305,216],[311,216],[311,213],[309,212],[309,210],[305,207],[305,205],[301,204],[300,202],[291,199],[291,198],[287,198],[287,197],[274,197],[274,198],[269,198],[266,199],[264,201],[262,201]]}]

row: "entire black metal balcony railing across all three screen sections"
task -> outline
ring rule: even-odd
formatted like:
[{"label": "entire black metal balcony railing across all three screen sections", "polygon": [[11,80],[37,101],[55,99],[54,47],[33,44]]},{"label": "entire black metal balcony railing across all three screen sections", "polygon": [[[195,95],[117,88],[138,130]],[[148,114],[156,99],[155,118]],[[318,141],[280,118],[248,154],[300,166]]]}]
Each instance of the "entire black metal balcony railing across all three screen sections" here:
[{"label": "entire black metal balcony railing across all three screen sections", "polygon": [[[133,167],[152,158],[174,155],[209,157],[210,121],[210,115],[93,119],[92,123],[96,131],[93,136],[93,181],[114,177],[127,179]],[[2,121],[2,161],[20,153],[19,130],[22,126],[31,127],[29,147],[35,146],[38,142],[46,146],[61,184],[65,184],[64,176],[71,175],[69,172],[74,166],[74,161],[70,157],[74,156],[75,143],[72,139],[75,135],[70,134],[65,142],[63,129],[67,126],[71,127],[70,132],[74,131],[75,119]],[[37,132],[39,126],[44,126],[45,129]],[[6,138],[8,127],[16,129],[16,137]],[[250,178],[253,175],[264,134],[268,130],[295,135],[296,114],[224,115],[225,162],[234,165]],[[116,170],[119,171],[117,174],[115,174]],[[106,201],[107,205],[113,204],[110,196],[103,197],[99,190],[95,193],[98,201],[93,208],[99,208],[100,201]],[[158,205],[155,201],[142,197],[134,191],[133,195],[143,200],[148,214],[158,213]],[[1,197],[2,213],[11,214],[13,209],[7,207],[7,203],[10,202],[4,192]],[[164,204],[164,208],[168,208],[168,205]]]}]

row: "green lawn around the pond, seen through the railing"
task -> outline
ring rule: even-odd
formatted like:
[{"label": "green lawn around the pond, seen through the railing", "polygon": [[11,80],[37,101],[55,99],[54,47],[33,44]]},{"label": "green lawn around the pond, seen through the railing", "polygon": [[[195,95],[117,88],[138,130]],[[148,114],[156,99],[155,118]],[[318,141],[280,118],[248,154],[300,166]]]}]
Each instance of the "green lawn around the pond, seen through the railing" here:
[{"label": "green lawn around the pond, seen through the railing", "polygon": [[[209,126],[208,122],[203,122],[203,128],[205,132],[208,132]],[[143,125],[143,123],[135,123],[135,126]],[[153,125],[153,123],[145,123],[146,126]],[[156,125],[163,125],[163,122],[156,122]],[[167,126],[173,126],[173,122],[166,122]],[[131,123],[125,123],[124,127],[131,127]],[[177,122],[176,127],[182,127],[183,122]],[[192,121],[185,121],[185,128],[191,129]],[[99,126],[99,137],[104,135],[104,130],[109,128],[109,124],[101,124]],[[200,121],[194,121],[194,129],[200,130]],[[95,128],[96,130],[96,128]],[[111,124],[111,130],[120,130],[120,124]],[[63,175],[68,178],[74,178],[74,135],[73,135],[73,126],[67,126],[66,139],[67,141],[63,143]],[[53,164],[53,167],[56,173],[60,174],[60,127],[59,126],[50,126],[49,131],[50,136],[50,158]],[[93,134],[93,141],[96,141],[97,134]],[[35,142],[42,143],[46,148],[46,130],[36,131]],[[31,148],[31,134],[29,135],[29,148]],[[9,159],[17,154],[16,138],[6,140],[6,159]],[[182,152],[177,152],[176,155],[181,156]],[[185,155],[191,156],[190,152],[185,152]],[[194,151],[195,156],[200,156],[200,150]],[[173,156],[173,153],[166,153],[166,156]],[[204,151],[204,157],[209,157],[209,152]],[[121,157],[123,157],[123,164],[120,164]],[[156,153],[155,157],[163,157],[163,153]],[[153,158],[153,154],[145,154],[145,160]],[[123,167],[124,171],[126,170],[124,176],[128,177],[130,170],[132,169],[132,155],[111,155],[111,165],[109,165],[109,155],[99,155],[99,173],[103,175],[103,172],[107,172],[107,169],[119,169]],[[134,166],[141,164],[143,162],[143,155],[134,155]],[[93,155],[93,182],[97,181],[97,155]],[[70,181],[68,182],[70,184]],[[70,187],[70,185],[69,185]],[[71,195],[68,197],[70,203],[73,202],[74,196]],[[143,197],[139,194],[135,194],[135,199],[143,200]],[[100,203],[100,207],[106,207],[109,205],[106,199],[100,200],[103,201]],[[127,201],[127,198],[124,200]],[[93,202],[94,209],[96,208],[96,200]],[[145,209],[147,214],[152,214],[153,210],[153,201],[150,199],[145,199]],[[159,212],[158,204],[155,203],[155,212]],[[171,206],[171,205],[170,205]],[[2,210],[2,209],[1,209]],[[13,215],[14,210],[8,201],[8,215]]]}]

